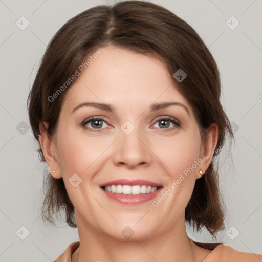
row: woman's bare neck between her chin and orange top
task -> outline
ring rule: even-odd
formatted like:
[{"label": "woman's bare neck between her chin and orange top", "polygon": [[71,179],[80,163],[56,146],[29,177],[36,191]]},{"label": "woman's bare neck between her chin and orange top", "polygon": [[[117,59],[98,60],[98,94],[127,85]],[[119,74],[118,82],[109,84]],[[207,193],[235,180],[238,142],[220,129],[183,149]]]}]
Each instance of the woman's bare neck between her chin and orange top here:
[{"label": "woman's bare neck between her chin and orange top", "polygon": [[[89,226],[77,223],[80,246],[72,256],[72,262],[196,262],[196,246],[186,233],[185,221],[181,219],[174,227],[146,239],[121,241]],[[86,230],[88,229],[88,230]]]}]

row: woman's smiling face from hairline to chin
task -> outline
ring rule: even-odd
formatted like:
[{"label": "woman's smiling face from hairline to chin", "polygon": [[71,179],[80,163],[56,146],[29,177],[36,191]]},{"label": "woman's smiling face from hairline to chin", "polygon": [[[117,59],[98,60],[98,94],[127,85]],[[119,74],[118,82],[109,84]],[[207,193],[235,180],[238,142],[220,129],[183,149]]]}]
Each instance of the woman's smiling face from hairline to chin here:
[{"label": "woman's smiling face from hairline to chin", "polygon": [[162,62],[99,50],[63,100],[52,175],[63,178],[78,228],[152,237],[184,221],[199,170],[208,167],[205,145]]}]

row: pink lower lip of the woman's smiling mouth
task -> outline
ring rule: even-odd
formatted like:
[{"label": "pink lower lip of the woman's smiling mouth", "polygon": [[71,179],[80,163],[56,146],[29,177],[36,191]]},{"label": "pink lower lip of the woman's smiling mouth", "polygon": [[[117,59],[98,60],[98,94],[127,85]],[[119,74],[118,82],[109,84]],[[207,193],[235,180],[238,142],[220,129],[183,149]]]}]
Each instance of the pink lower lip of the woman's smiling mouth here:
[{"label": "pink lower lip of the woman's smiling mouth", "polygon": [[101,190],[107,195],[108,198],[115,200],[120,204],[125,204],[125,205],[138,205],[150,201],[152,199],[155,199],[158,193],[161,191],[161,189],[162,187],[159,188],[154,193],[130,195],[130,194],[118,194],[118,193],[107,192],[101,188]]}]

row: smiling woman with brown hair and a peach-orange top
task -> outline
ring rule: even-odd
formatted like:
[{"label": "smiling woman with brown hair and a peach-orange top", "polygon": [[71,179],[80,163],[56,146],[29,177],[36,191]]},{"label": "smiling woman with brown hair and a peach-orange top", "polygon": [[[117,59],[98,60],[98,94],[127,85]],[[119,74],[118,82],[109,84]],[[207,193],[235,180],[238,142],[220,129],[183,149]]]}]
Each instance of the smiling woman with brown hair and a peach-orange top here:
[{"label": "smiling woman with brown hair and a peach-orange top", "polygon": [[43,218],[64,208],[79,233],[56,262],[262,260],[186,233],[224,229],[220,94],[201,38],[158,5],[94,7],[56,33],[28,99],[50,169]]}]

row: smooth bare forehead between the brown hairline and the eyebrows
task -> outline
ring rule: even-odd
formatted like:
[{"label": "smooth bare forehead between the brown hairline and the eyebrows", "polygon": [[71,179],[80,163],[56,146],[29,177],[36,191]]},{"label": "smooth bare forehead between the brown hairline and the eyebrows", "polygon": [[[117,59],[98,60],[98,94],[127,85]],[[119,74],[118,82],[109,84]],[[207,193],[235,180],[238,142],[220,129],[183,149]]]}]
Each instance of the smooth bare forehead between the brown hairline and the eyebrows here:
[{"label": "smooth bare forehead between the brown hairline and the eyebrows", "polygon": [[92,100],[146,108],[154,102],[176,101],[190,107],[165,64],[157,58],[112,46],[99,50],[101,54],[71,86],[64,103],[72,107]]}]

